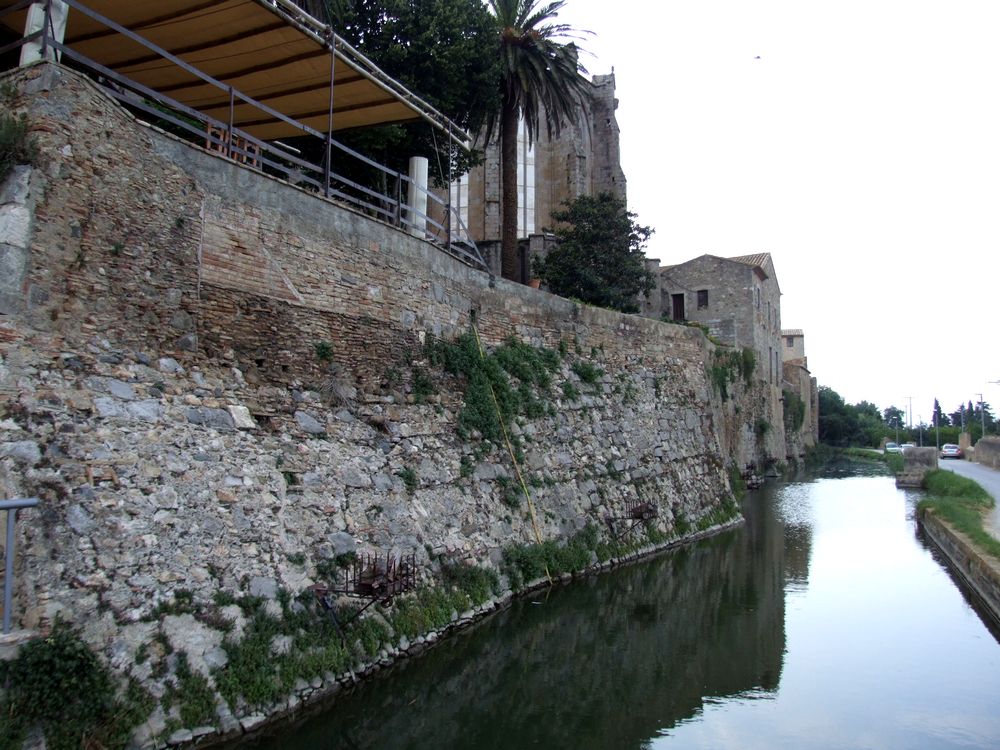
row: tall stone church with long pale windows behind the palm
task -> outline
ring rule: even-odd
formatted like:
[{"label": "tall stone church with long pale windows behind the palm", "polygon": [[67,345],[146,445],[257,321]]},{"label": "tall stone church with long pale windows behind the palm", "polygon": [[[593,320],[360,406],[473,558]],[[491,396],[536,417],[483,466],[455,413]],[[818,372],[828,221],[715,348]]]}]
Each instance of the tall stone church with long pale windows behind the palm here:
[{"label": "tall stone church with long pale windows behind the palm", "polygon": [[[531,254],[544,253],[551,244],[551,239],[546,242],[545,232],[553,224],[552,212],[564,201],[600,193],[625,199],[617,107],[614,73],[596,75],[587,105],[580,107],[574,121],[566,123],[558,134],[549,135],[542,123],[538,137],[529,143],[521,123],[517,148],[521,281],[527,281],[530,275]],[[500,192],[500,147],[494,142],[484,149],[483,164],[452,185],[451,204],[497,274]]]}]

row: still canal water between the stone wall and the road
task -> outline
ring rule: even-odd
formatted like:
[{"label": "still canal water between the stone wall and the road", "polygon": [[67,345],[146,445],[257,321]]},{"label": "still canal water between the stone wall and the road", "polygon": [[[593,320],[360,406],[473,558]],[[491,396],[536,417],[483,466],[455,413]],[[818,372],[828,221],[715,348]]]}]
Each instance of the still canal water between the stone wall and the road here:
[{"label": "still canal water between the stone wall and the road", "polygon": [[1000,641],[857,465],[541,591],[254,747],[1000,748]]}]

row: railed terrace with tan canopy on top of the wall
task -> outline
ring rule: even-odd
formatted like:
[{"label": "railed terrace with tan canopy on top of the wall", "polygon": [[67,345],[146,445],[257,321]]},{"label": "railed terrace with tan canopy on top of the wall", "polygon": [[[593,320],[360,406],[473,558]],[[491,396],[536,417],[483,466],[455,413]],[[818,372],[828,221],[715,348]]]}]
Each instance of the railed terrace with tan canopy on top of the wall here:
[{"label": "railed terrace with tan canopy on top of the wall", "polygon": [[[468,136],[302,6],[323,7],[308,0],[0,0],[0,62],[57,60],[84,71],[140,119],[193,146],[488,271],[457,213],[428,189],[425,160],[422,167],[411,160],[402,173],[335,138],[415,121],[449,150],[464,148]],[[450,166],[447,176],[450,182]]]}]

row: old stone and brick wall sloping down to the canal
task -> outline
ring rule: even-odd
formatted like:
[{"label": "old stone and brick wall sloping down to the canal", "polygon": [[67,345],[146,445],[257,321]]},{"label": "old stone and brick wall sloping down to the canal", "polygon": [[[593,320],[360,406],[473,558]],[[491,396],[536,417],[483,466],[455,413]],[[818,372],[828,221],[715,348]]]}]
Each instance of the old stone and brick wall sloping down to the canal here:
[{"label": "old stone and brick wall sloping down to the canal", "polygon": [[[19,523],[22,627],[62,616],[158,698],[190,667],[228,696],[208,734],[298,702],[230,700],[230,646],[251,626],[226,601],[280,614],[343,555],[376,551],[414,554],[432,588],[454,563],[506,588],[504,551],[535,526],[444,356],[474,331],[487,354],[505,341],[544,354],[544,378],[510,377],[509,425],[543,540],[610,541],[607,518],[635,501],[659,508],[641,530],[653,541],[732,518],[699,331],[491,286],[137,123],[61,67],[11,80],[42,155],[3,193],[30,219],[8,245],[18,277],[0,319],[0,484],[41,499]],[[298,648],[283,637],[278,661]],[[162,700],[137,741],[192,739],[182,705]]]}]

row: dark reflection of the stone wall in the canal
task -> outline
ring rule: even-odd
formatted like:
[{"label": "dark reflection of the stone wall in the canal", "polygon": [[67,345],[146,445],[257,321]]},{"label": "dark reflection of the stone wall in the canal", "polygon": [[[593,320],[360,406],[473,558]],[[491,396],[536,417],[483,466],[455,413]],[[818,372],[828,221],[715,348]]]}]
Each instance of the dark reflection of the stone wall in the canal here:
[{"label": "dark reflection of the stone wall in the canal", "polygon": [[[299,747],[636,747],[704,697],[777,688],[781,529],[747,527],[531,601],[338,701]],[[408,704],[415,701],[412,706]],[[352,718],[353,717],[353,718]],[[292,738],[284,748],[296,746]],[[349,745],[348,745],[349,746]]]}]

